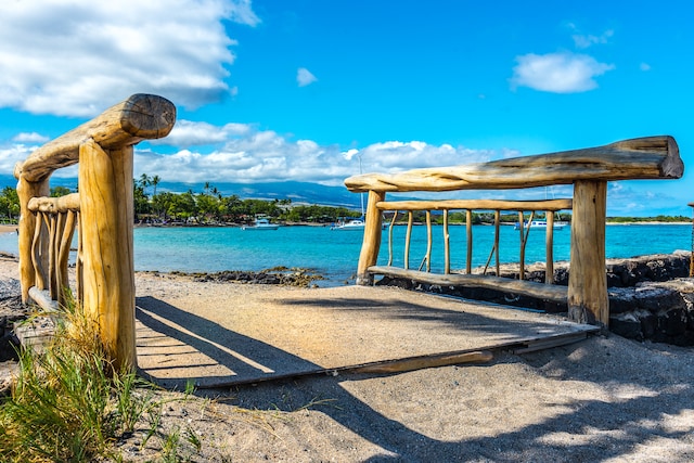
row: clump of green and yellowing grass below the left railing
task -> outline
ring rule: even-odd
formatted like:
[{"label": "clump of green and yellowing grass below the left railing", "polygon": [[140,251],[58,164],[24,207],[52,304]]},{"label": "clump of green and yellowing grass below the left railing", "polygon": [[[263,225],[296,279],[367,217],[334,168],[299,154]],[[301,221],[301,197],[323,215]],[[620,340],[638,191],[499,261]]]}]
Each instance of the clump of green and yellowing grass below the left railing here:
[{"label": "clump of green and yellowing grass below the left railing", "polygon": [[43,351],[20,353],[12,394],[0,399],[0,461],[118,461],[114,443],[145,415],[174,459],[179,435],[158,432],[162,402],[154,388],[133,372],[114,371],[95,326],[74,307],[64,310],[65,322]]}]

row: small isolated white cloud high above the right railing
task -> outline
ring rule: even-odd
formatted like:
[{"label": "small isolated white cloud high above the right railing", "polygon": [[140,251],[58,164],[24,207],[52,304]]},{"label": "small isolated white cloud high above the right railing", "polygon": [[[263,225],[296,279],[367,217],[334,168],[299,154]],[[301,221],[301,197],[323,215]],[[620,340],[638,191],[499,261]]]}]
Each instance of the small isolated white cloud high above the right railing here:
[{"label": "small isolated white cloud high above the right railing", "polygon": [[553,93],[577,93],[597,87],[594,77],[615,68],[594,57],[575,53],[529,53],[516,57],[511,82]]}]

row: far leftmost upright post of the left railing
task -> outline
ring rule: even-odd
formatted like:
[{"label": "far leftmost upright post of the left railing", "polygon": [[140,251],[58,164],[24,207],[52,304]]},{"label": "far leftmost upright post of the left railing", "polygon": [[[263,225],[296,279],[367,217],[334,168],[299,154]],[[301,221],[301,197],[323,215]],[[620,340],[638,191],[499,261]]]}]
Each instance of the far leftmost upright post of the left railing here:
[{"label": "far leftmost upright post of the left railing", "polygon": [[[29,210],[29,201],[34,196],[48,196],[50,192],[48,179],[30,182],[24,178],[17,181],[17,196],[20,197],[18,252],[20,252],[20,283],[22,285],[22,303],[29,298],[29,288],[36,285],[36,267],[33,259],[34,231],[36,230],[36,214]],[[48,241],[42,240],[41,256],[47,259],[43,268],[48,268]]]}]

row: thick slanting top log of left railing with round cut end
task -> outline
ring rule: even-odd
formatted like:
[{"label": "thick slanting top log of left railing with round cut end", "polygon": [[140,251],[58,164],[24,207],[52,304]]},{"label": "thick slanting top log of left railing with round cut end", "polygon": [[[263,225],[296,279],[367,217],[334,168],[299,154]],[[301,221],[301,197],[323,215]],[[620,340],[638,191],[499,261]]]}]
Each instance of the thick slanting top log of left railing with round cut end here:
[{"label": "thick slanting top log of left railing with round cut end", "polygon": [[176,123],[176,106],[165,98],[138,93],[100,116],[37,149],[14,167],[14,177],[39,182],[55,169],[79,162],[79,145],[93,139],[104,150],[166,137]]}]

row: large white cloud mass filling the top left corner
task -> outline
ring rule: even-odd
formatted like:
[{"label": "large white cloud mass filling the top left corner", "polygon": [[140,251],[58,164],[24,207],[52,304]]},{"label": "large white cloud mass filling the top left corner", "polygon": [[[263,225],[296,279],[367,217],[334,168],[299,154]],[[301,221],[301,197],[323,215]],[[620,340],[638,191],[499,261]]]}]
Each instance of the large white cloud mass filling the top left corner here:
[{"label": "large white cloud mass filling the top left corner", "polygon": [[235,91],[224,20],[259,22],[249,0],[2,1],[0,107],[93,116],[138,92],[219,101]]}]

